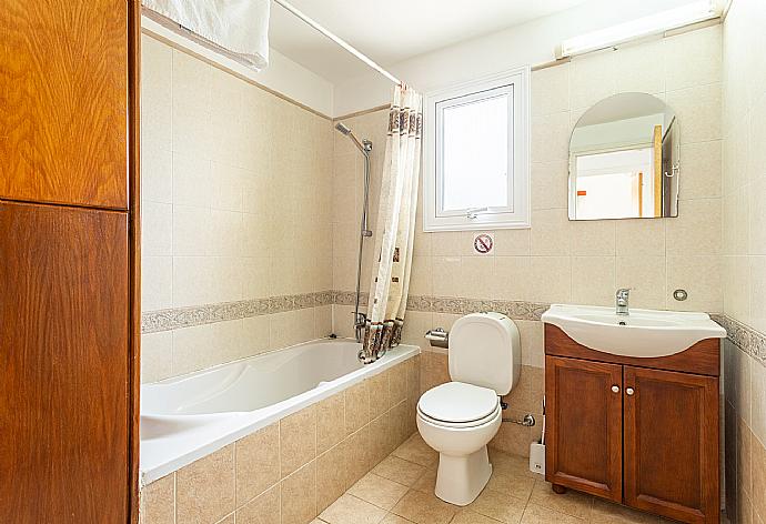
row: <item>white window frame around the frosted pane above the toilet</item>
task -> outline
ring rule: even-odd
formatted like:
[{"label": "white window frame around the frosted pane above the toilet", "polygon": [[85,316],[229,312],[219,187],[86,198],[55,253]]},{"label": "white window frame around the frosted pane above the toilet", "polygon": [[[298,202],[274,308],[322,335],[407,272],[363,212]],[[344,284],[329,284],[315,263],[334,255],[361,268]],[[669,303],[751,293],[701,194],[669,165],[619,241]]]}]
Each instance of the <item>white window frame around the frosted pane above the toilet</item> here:
[{"label": "white window frame around the frosted pane above the toilet", "polygon": [[[424,97],[423,150],[423,231],[478,231],[530,228],[530,68],[484,77],[429,92]],[[487,93],[494,91],[493,93]],[[441,173],[441,110],[511,94],[508,113],[508,177],[513,202],[507,208],[441,211],[443,180]],[[488,95],[487,95],[488,94]],[[473,218],[470,216],[473,215]]]}]

